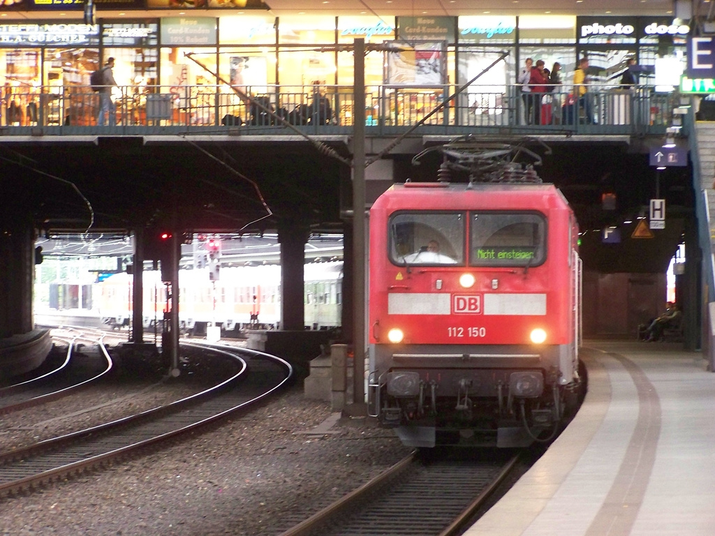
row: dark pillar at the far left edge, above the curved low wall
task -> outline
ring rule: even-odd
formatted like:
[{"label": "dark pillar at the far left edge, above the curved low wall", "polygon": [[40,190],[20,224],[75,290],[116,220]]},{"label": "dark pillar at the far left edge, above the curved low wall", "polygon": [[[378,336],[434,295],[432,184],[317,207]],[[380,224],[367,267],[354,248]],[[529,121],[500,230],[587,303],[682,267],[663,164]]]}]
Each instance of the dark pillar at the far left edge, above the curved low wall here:
[{"label": "dark pillar at the far left edge, above the curved low wall", "polygon": [[29,218],[0,229],[0,339],[34,329],[34,238]]}]

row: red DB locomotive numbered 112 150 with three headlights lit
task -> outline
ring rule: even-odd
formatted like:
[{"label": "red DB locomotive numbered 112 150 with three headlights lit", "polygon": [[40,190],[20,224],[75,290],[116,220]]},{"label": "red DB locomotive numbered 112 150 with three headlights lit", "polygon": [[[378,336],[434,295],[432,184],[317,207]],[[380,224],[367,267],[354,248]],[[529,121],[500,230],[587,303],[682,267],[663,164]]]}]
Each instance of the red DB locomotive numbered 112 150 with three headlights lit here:
[{"label": "red DB locomotive numbered 112 150 with three headlights lit", "polygon": [[581,261],[553,184],[405,183],[370,210],[370,413],[405,445],[555,435],[579,387]]}]

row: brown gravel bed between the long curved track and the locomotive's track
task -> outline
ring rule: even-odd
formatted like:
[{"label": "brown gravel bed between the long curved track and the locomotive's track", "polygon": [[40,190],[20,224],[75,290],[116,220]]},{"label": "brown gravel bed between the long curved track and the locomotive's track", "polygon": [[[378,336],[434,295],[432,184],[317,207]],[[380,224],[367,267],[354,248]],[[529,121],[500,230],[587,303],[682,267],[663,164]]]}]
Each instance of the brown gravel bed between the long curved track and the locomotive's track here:
[{"label": "brown gravel bed between the long curved track and the locomotive's track", "polygon": [[[221,427],[0,502],[0,535],[277,535],[408,455],[292,387]],[[320,430],[323,430],[322,428]]]}]

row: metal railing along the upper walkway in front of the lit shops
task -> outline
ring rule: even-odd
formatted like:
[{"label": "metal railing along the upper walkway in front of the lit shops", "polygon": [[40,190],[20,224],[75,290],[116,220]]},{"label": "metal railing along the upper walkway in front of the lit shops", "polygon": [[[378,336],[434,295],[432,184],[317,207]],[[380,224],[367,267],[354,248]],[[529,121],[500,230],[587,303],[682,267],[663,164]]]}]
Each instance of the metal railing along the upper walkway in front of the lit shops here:
[{"label": "metal railing along the upper walkway in front of the lit shops", "polygon": [[[429,133],[463,134],[475,128],[572,134],[663,134],[678,95],[650,86],[617,89],[555,86],[541,94],[519,86],[450,84],[366,87],[368,136],[395,135],[430,116]],[[551,89],[551,88],[548,88]],[[16,88],[3,102],[0,136],[77,134],[346,134],[352,131],[352,86],[242,87],[222,85],[114,86],[114,114],[98,124],[100,94],[90,86]],[[249,95],[246,98],[245,95]],[[575,96],[576,95],[576,96]],[[423,131],[425,131],[423,130]]]}]

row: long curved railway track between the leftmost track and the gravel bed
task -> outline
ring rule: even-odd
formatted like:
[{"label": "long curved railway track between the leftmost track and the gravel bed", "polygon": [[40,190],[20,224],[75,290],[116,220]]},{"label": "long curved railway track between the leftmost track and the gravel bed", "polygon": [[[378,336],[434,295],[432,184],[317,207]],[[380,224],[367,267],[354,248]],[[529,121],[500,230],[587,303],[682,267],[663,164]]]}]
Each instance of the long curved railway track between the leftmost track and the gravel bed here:
[{"label": "long curved railway track between the leftmost track and the gravel bed", "polygon": [[[159,442],[219,422],[280,389],[292,374],[290,364],[282,359],[247,349],[182,344],[182,357],[186,358],[183,366],[187,372],[229,359],[235,374],[169,405],[0,453],[0,496],[117,462]],[[244,381],[247,379],[250,381]]]}]

